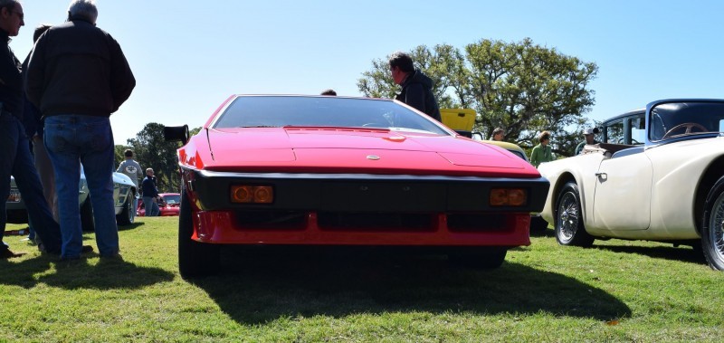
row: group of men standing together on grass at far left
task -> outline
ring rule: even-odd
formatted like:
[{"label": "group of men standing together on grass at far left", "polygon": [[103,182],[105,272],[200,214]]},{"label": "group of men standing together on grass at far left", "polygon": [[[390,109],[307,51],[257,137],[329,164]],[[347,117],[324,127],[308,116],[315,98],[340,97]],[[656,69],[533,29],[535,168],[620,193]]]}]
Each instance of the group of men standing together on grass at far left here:
[{"label": "group of men standing together on grass at far left", "polygon": [[[38,248],[61,260],[77,260],[93,250],[82,244],[81,166],[100,257],[120,257],[109,118],[129,99],[136,80],[119,43],[96,26],[97,18],[94,2],[72,0],[65,23],[36,29],[33,51],[21,63],[8,43],[25,24],[23,6],[0,0],[5,43],[0,49],[0,197],[7,198],[14,176]],[[0,204],[2,242],[7,218],[5,202]],[[0,243],[0,258],[22,254]]]}]

